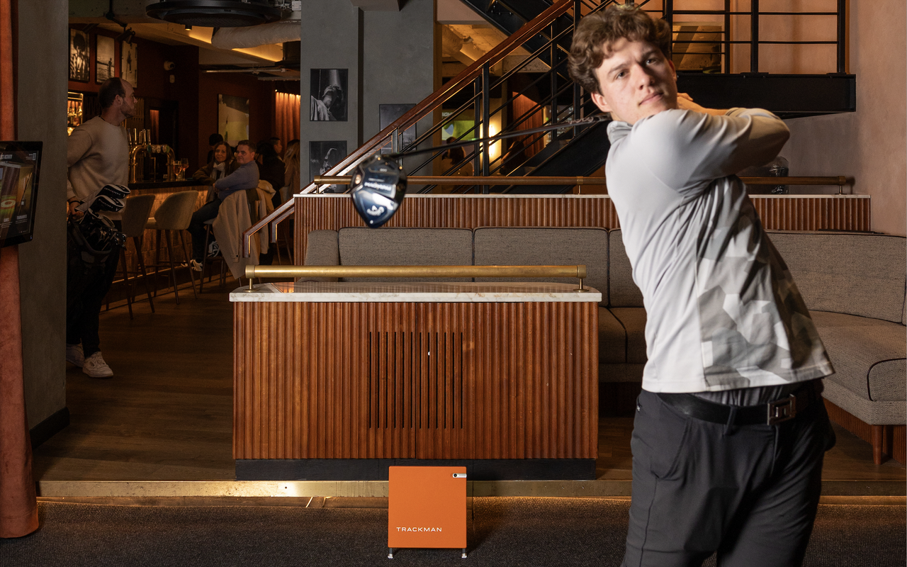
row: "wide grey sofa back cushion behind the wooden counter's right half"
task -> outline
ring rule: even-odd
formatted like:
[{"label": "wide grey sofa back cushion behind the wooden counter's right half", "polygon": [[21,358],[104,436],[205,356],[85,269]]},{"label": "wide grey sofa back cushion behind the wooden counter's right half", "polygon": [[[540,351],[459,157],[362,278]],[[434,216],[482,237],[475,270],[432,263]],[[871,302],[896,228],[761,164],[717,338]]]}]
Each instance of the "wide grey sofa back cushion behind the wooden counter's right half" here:
[{"label": "wide grey sofa back cushion behind the wooden counter's right half", "polygon": [[[475,230],[476,266],[570,266],[585,264],[585,285],[608,290],[608,230],[563,228],[479,228]],[[557,281],[576,278],[476,278],[476,281]]]}]

